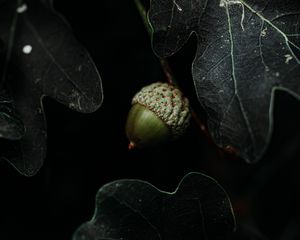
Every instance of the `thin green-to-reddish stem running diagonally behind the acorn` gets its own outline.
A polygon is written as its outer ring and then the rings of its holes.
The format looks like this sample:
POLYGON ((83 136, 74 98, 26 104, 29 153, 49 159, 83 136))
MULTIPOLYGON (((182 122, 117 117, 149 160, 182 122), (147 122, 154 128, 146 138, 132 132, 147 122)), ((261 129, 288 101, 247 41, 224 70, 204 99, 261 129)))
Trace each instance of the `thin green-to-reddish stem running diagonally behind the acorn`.
MULTIPOLYGON (((150 35, 150 37, 152 38, 153 29, 152 29, 152 26, 149 23, 148 16, 147 16, 147 11, 146 11, 144 5, 141 3, 141 0, 134 0, 134 2, 135 2, 135 5, 137 7, 137 10, 140 13, 140 16, 141 16, 141 18, 144 22, 145 28, 146 28, 148 34, 150 35)), ((159 59, 160 65, 161 65, 161 67, 164 71, 164 74, 166 76, 167 82, 169 84, 175 85, 177 88, 179 88, 178 83, 175 80, 172 68, 171 68, 168 60, 165 59, 165 58, 161 58, 161 57, 158 57, 158 59, 159 59)), ((201 132, 203 132, 204 135, 208 138, 208 140, 213 143, 213 140, 212 140, 209 132, 207 131, 207 128, 206 128, 205 124, 199 119, 199 117, 197 116, 197 114, 193 110, 193 108, 190 107, 190 109, 191 109, 191 115, 192 115, 192 118, 194 119, 194 122, 197 124, 197 126, 199 127, 201 132)))

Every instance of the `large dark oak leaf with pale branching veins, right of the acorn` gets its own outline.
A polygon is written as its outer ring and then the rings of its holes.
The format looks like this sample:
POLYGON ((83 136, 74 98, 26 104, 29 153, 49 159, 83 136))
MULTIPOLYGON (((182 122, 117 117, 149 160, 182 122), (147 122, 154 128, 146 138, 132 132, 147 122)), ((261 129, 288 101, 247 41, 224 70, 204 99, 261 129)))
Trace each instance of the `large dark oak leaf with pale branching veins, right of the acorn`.
POLYGON ((298 0, 152 0, 153 49, 177 52, 192 33, 192 74, 211 135, 248 162, 272 133, 275 90, 300 93, 298 0))

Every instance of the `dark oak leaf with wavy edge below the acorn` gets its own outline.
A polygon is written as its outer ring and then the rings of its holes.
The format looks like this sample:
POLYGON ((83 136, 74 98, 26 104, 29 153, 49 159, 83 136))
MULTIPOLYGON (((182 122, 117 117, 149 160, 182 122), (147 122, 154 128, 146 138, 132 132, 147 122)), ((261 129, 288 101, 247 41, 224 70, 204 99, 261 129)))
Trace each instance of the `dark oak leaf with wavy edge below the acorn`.
POLYGON ((226 239, 235 228, 229 198, 212 178, 190 173, 174 193, 140 180, 103 186, 92 220, 73 240, 226 239))

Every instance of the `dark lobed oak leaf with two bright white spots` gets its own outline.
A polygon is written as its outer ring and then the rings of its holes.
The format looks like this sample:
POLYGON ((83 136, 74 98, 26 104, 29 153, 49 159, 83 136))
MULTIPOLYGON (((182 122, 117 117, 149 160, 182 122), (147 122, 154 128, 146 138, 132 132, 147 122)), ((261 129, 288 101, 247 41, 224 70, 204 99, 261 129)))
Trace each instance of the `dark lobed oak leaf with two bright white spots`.
POLYGON ((32 176, 46 156, 43 97, 79 112, 93 112, 102 103, 101 79, 50 0, 4 1, 0 38, 6 53, 2 82, 11 90, 26 129, 22 140, 7 146, 9 154, 4 157, 20 173, 32 176))

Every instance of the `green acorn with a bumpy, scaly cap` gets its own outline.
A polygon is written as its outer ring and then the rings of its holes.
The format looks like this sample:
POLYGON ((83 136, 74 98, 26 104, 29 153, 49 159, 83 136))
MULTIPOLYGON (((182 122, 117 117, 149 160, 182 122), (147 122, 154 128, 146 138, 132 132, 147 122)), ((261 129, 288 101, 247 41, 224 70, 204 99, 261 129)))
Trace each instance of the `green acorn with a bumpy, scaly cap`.
POLYGON ((189 101, 175 86, 157 82, 142 88, 132 99, 126 122, 129 149, 179 138, 190 117, 189 101))

